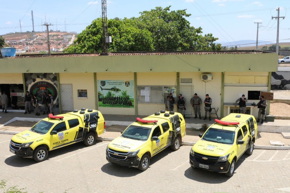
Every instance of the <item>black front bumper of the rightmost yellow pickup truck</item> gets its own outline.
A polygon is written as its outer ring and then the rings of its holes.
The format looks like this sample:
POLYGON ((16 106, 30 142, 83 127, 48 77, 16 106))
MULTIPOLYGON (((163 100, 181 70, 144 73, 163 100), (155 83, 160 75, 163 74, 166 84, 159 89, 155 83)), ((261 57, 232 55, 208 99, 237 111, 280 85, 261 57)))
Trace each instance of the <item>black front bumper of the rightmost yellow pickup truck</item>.
POLYGON ((189 163, 191 165, 191 167, 197 167, 197 168, 201 168, 204 170, 209 170, 209 171, 213 171, 213 172, 219 172, 219 173, 226 173, 229 170, 230 167, 230 163, 229 161, 222 161, 222 162, 216 162, 215 164, 206 164, 206 163, 200 163, 198 162, 195 158, 194 155, 189 153, 189 163), (204 165, 205 167, 208 166, 208 168, 204 168, 204 167, 200 167, 202 165, 204 165))

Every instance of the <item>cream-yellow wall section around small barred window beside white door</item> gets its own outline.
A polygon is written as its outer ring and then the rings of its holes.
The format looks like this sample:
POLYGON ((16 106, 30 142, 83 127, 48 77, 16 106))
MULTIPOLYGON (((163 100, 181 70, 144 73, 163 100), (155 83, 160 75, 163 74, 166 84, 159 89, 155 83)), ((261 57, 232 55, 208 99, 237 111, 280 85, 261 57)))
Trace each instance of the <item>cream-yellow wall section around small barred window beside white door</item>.
MULTIPOLYGON (((95 85, 94 73, 59 73, 60 84, 72 84, 73 86, 73 108, 95 109, 95 85), (78 99, 77 90, 85 89, 88 92, 87 99, 78 99)), ((61 92, 61 91, 60 91, 61 92)))

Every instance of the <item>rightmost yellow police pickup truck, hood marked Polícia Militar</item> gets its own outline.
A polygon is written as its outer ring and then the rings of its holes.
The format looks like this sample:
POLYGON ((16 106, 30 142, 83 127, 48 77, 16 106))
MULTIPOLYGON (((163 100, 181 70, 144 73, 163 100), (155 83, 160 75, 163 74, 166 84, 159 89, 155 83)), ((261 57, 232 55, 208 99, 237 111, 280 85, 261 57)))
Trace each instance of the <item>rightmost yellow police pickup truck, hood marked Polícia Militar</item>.
POLYGON ((233 176, 236 162, 246 153, 251 155, 257 139, 257 122, 252 115, 231 113, 215 119, 191 148, 189 163, 193 168, 233 176))

